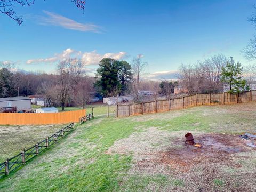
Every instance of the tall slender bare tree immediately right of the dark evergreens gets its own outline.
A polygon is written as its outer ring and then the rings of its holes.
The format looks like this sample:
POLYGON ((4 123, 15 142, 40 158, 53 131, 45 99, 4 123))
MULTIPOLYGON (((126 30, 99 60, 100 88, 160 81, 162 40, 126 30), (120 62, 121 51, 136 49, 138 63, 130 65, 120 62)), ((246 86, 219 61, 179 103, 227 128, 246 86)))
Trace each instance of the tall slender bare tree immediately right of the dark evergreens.
POLYGON ((134 101, 138 102, 139 99, 139 85, 140 79, 145 72, 147 62, 142 60, 142 55, 138 55, 137 57, 132 58, 132 71, 133 71, 133 94, 134 101))

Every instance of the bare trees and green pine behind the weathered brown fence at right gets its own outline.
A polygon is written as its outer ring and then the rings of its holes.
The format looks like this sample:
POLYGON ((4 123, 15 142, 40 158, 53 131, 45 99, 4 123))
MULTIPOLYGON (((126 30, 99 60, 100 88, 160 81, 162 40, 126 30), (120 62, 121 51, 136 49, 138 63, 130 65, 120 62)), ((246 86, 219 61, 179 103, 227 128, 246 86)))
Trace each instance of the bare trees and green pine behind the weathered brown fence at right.
POLYGON ((252 73, 243 71, 241 63, 235 63, 232 57, 228 59, 218 54, 194 64, 182 64, 178 78, 189 94, 223 92, 224 86, 228 87, 229 93, 239 93, 251 89, 256 77, 252 73))

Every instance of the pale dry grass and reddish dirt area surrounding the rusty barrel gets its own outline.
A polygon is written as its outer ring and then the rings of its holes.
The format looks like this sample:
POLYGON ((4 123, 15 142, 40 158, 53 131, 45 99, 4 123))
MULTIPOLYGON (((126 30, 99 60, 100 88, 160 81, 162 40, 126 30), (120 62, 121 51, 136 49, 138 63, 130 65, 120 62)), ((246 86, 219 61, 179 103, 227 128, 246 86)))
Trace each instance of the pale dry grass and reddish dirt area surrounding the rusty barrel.
POLYGON ((201 145, 195 147, 185 144, 185 133, 150 128, 117 141, 107 153, 133 154, 126 180, 167 178, 161 187, 148 185, 146 190, 255 191, 256 150, 239 135, 195 132, 195 142, 201 145))

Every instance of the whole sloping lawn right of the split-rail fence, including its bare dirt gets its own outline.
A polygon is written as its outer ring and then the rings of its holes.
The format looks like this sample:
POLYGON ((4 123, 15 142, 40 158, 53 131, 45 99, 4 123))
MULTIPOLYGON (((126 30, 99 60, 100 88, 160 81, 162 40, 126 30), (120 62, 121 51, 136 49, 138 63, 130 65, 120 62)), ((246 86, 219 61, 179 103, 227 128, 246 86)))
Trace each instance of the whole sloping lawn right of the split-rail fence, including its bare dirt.
POLYGON ((255 191, 256 150, 238 137, 256 133, 255 102, 127 118, 94 109, 0 191, 255 191), (187 132, 201 148, 185 145, 187 132))

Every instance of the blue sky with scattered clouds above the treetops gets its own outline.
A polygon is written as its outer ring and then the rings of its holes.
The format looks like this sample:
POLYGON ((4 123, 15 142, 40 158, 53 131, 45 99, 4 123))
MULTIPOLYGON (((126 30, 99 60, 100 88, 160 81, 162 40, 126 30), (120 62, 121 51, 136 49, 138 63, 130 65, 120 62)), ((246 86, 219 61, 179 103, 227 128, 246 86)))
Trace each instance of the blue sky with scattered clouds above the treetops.
POLYGON ((81 58, 94 75, 102 58, 131 62, 143 54, 151 79, 173 79, 181 63, 222 53, 247 65, 243 47, 255 28, 250 0, 36 0, 15 6, 25 21, 0 14, 0 61, 20 70, 53 73, 57 62, 81 58))

